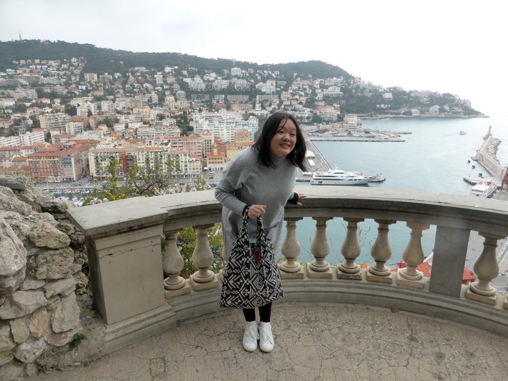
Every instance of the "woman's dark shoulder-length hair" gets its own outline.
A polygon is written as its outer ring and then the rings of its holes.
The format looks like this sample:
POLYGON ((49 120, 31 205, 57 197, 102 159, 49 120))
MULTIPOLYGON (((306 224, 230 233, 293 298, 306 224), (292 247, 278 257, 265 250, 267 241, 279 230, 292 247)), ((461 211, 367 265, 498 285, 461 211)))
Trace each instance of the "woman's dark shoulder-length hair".
POLYGON ((300 125, 296 121, 295 117, 287 112, 276 112, 270 115, 270 117, 265 121, 265 124, 263 124, 261 135, 254 143, 253 147, 258 150, 258 157, 261 163, 267 167, 275 168, 270 156, 270 142, 280 128, 282 128, 283 125, 279 128, 280 123, 283 122, 283 124, 285 124, 288 119, 293 121, 296 125, 296 144, 295 149, 288 153, 286 157, 295 167, 298 167, 303 172, 306 172, 307 167, 305 166, 305 152, 307 152, 307 147, 305 145, 305 139, 303 139, 300 125))

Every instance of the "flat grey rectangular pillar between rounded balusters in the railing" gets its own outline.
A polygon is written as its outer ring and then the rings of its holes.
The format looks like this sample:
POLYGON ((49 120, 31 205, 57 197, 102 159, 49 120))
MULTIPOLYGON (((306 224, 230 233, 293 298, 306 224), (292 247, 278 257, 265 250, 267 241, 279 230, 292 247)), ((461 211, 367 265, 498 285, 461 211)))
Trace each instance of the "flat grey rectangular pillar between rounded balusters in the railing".
POLYGON ((460 297, 469 232, 469 229, 437 227, 430 292, 460 297))

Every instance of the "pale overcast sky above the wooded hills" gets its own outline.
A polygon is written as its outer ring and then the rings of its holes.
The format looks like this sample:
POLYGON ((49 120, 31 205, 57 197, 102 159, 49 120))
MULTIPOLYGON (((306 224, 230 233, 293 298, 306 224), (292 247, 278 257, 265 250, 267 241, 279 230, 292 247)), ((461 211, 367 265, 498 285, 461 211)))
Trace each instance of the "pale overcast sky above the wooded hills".
POLYGON ((506 107, 500 1, 0 0, 0 41, 90 43, 258 63, 321 60, 365 81, 506 107), (347 4, 349 3, 349 4, 347 4))

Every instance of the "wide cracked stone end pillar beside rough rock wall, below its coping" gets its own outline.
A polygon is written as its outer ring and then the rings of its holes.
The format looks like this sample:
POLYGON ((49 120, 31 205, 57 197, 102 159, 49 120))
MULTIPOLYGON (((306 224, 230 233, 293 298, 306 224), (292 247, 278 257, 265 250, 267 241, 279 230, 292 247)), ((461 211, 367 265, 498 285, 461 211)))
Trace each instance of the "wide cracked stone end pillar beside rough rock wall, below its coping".
POLYGON ((162 225, 104 238, 87 238, 93 302, 106 323, 112 352, 176 326, 164 293, 162 225))

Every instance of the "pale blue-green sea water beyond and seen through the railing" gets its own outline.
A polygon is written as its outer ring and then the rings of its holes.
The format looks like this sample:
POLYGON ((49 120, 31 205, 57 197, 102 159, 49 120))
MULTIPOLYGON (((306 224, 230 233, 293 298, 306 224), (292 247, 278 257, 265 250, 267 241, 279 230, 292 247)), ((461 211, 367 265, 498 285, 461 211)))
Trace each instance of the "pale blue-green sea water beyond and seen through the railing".
MULTIPOLYGON (((497 158, 508 164, 508 124, 503 118, 390 118, 362 120, 363 128, 409 132, 401 134, 404 142, 313 142, 330 166, 345 171, 363 172, 366 176, 382 174, 385 182, 366 186, 423 190, 426 192, 469 195, 470 184, 464 177, 489 176, 488 171, 471 156, 481 147, 483 137, 492 126, 492 135, 501 140, 497 158), (460 135, 460 131, 467 134, 460 135), (470 163, 467 163, 471 160, 470 163), (475 165, 475 168, 471 168, 475 165)), ((307 183, 302 183, 308 185, 307 183)), ((303 200, 305 202, 305 200, 303 200)), ((327 222, 330 254, 326 261, 336 265, 343 261, 340 245, 345 237, 346 223, 342 218, 327 222)), ((362 253, 357 263, 374 263, 370 247, 377 235, 377 224, 366 219, 359 223, 359 239, 362 253)), ((402 260, 402 251, 409 241, 410 229, 403 221, 390 225, 388 234, 392 258, 388 263, 402 260)), ((422 246, 425 255, 434 247, 435 226, 423 232, 422 246)), ((315 233, 315 221, 304 218, 297 223, 297 237, 302 246, 298 260, 306 262, 314 258, 310 242, 315 233)))

